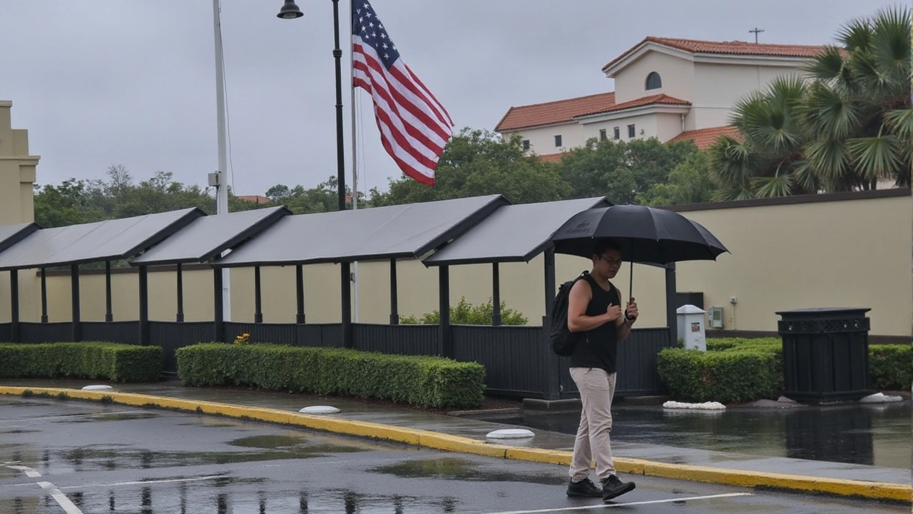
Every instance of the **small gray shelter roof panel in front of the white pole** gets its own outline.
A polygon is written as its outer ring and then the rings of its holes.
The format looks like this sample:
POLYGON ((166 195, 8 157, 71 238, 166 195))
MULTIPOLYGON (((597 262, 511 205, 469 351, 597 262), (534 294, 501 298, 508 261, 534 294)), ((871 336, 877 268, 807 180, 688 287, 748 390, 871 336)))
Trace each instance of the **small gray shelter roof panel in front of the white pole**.
POLYGON ((266 230, 283 216, 286 207, 242 210, 193 220, 184 229, 131 261, 133 265, 206 262, 266 230))

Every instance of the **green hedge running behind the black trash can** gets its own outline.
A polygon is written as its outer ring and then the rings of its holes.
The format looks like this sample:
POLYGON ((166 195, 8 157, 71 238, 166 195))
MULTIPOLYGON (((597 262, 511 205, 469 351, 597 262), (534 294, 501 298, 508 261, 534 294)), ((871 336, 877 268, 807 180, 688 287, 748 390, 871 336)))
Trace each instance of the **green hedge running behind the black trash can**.
MULTIPOLYGON (((913 347, 869 345, 870 386, 909 391, 913 347)), ((776 399, 784 389, 779 337, 707 339, 707 351, 664 348, 656 358, 660 380, 679 400, 750 402, 776 399)))

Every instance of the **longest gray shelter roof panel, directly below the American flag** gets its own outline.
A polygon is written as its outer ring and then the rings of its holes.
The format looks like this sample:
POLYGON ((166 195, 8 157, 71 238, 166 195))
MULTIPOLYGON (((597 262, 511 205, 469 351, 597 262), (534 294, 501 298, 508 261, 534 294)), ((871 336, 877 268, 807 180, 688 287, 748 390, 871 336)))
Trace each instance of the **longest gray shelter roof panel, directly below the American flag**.
POLYGON ((416 258, 509 202, 501 195, 286 216, 215 266, 416 258))

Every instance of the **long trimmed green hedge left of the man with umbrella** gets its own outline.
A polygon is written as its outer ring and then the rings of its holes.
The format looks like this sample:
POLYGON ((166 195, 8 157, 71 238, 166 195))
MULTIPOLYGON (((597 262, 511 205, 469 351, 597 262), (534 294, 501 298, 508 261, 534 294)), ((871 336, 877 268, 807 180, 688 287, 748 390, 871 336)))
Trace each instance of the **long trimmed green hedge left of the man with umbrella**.
POLYGON ((178 376, 191 386, 357 396, 433 408, 481 405, 485 368, 475 362, 349 348, 200 343, 179 348, 178 376))

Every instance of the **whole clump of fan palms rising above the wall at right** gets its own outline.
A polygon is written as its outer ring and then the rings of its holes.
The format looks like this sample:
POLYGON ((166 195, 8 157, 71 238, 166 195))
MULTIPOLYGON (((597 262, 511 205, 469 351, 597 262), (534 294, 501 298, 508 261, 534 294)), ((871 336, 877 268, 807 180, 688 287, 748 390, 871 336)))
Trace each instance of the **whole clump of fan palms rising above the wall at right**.
POLYGON ((811 59, 810 77, 782 76, 737 102, 740 137, 709 149, 715 199, 780 197, 910 185, 910 17, 884 9, 842 27, 811 59))

